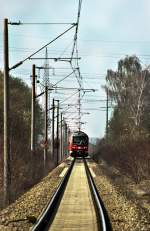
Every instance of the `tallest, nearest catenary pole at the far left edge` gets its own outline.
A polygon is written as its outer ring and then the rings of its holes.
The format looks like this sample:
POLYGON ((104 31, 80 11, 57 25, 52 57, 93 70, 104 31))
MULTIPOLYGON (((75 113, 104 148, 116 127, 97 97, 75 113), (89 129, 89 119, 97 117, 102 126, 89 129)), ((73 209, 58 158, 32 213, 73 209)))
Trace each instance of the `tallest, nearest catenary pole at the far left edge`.
POLYGON ((9 47, 8 19, 4 19, 4 205, 10 203, 10 143, 9 143, 9 47))

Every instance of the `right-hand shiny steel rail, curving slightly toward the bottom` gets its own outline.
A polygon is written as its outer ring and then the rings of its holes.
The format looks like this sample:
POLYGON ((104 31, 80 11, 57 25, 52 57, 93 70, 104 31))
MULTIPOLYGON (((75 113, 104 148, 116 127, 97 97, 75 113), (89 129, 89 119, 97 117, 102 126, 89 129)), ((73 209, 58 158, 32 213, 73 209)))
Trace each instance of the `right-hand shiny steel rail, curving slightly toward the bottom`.
POLYGON ((102 202, 102 199, 100 198, 95 182, 91 175, 90 169, 88 167, 87 161, 85 159, 84 159, 84 165, 85 165, 85 170, 86 170, 86 174, 88 178, 88 183, 89 183, 92 197, 94 200, 94 205, 95 205, 97 220, 98 220, 98 226, 99 226, 98 228, 100 231, 112 231, 112 226, 111 226, 107 211, 102 202))

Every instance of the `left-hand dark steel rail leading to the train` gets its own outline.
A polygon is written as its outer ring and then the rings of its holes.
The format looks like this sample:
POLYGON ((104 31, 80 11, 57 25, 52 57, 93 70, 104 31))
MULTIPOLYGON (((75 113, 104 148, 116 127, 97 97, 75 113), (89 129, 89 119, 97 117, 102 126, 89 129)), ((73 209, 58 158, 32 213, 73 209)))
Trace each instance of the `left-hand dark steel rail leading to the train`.
POLYGON ((63 180, 60 182, 56 192, 54 193, 53 197, 51 198, 44 212, 41 214, 41 216, 39 217, 35 225, 31 228, 31 231, 48 230, 49 224, 52 223, 52 220, 55 215, 54 213, 56 212, 58 205, 61 201, 61 198, 63 196, 63 193, 65 191, 65 188, 69 180, 69 177, 71 175, 74 163, 75 163, 75 159, 72 161, 68 171, 66 172, 63 180))

